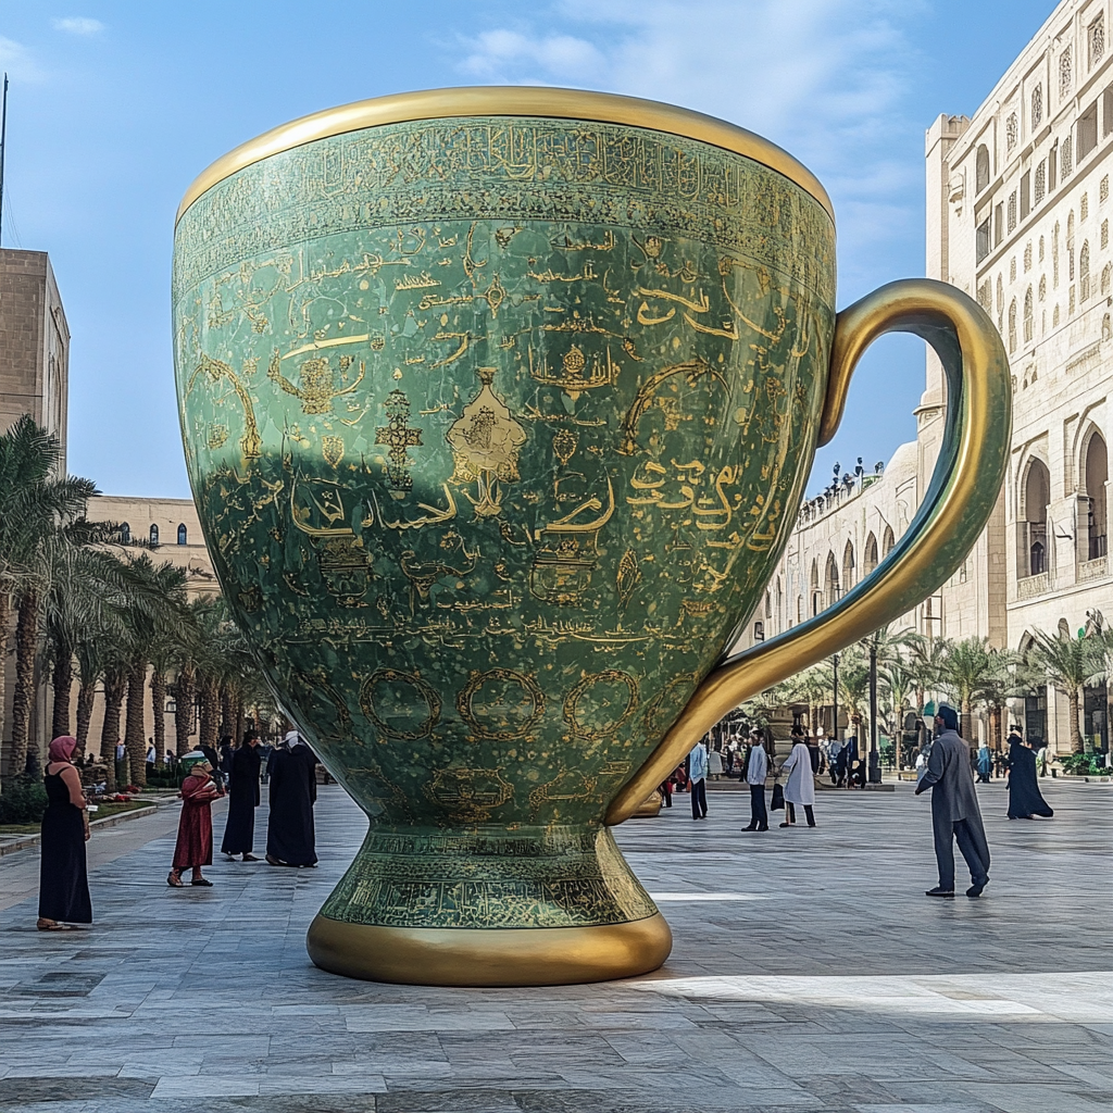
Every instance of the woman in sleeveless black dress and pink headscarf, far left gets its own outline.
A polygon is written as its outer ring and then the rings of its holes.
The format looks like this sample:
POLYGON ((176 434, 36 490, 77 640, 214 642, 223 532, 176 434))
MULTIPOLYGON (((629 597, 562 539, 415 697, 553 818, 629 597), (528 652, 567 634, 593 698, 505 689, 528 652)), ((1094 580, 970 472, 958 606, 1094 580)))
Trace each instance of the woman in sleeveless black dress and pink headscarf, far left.
POLYGON ((42 814, 40 932, 70 932, 71 924, 92 923, 85 860, 89 812, 81 777, 70 761, 76 746, 77 739, 68 735, 56 738, 50 743, 50 760, 43 777, 48 802, 42 814))

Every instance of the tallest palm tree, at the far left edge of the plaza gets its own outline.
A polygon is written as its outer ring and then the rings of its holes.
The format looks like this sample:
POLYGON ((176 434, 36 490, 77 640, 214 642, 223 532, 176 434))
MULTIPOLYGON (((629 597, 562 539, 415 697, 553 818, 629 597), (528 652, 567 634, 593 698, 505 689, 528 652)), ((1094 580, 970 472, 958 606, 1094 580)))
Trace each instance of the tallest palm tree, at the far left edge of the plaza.
MULTIPOLYGON (((97 489, 89 480, 59 476, 61 449, 24 414, 0 434, 0 646, 11 632, 13 602, 19 610, 16 690, 10 768, 22 770, 29 757, 30 708, 39 634, 39 598, 45 590, 46 539, 60 523, 83 516, 97 489)), ((3 669, 0 669, 0 732, 3 727, 3 669)), ((35 755, 30 755, 32 762, 35 755)))

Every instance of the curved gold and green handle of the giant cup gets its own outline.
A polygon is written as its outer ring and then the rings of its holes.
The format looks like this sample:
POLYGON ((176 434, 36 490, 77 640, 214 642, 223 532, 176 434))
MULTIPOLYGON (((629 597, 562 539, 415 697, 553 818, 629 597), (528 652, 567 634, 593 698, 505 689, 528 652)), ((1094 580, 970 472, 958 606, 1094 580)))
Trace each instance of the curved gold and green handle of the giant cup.
POLYGON ((908 531, 870 575, 833 607, 777 638, 727 658, 628 781, 607 812, 628 819, 731 708, 907 613, 966 559, 997 500, 1008 460, 1008 358, 988 315, 945 283, 889 283, 848 306, 835 324, 818 443, 838 429, 850 375, 885 333, 923 337, 943 363, 947 420, 932 484, 908 531))

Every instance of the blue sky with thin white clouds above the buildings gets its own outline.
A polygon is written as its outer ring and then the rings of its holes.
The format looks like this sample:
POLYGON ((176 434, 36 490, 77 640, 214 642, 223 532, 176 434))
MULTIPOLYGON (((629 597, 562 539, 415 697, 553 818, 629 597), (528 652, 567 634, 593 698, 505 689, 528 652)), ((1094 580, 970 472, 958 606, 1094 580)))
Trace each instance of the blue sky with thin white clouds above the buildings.
MULTIPOLYGON (((544 83, 759 131, 835 201, 839 306, 924 272, 924 130, 972 112, 1050 0, 0 0, 11 76, 3 244, 48 250, 72 332, 69 466, 187 496, 174 402, 174 214, 193 178, 307 112, 407 89, 544 83)), ((867 356, 835 460, 915 435, 923 345, 867 356)))

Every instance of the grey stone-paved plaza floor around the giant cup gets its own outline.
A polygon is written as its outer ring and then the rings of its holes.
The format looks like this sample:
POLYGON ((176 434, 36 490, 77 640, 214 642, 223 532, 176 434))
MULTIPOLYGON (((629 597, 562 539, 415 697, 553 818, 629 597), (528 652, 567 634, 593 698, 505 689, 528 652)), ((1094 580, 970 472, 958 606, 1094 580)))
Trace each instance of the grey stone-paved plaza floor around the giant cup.
MULTIPOLYGON (((97 923, 35 930, 36 850, 0 860, 0 1109, 42 1113, 1097 1113, 1113 1102, 1113 786, 981 790, 982 900, 932 902, 925 798, 825 792, 742 835, 686 797, 618 839, 672 925, 648 977, 545 989, 348 982, 305 929, 357 846, 337 788, 316 870, 165 877, 176 809, 90 844, 97 923)), ((257 831, 265 826, 260 809, 257 831)), ((223 831, 224 819, 215 824, 223 831)), ((963 876, 961 874, 961 876, 963 876)))

